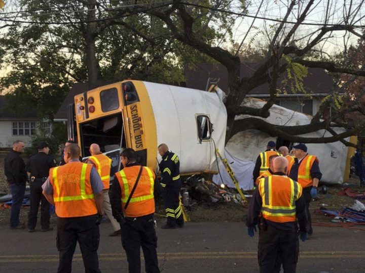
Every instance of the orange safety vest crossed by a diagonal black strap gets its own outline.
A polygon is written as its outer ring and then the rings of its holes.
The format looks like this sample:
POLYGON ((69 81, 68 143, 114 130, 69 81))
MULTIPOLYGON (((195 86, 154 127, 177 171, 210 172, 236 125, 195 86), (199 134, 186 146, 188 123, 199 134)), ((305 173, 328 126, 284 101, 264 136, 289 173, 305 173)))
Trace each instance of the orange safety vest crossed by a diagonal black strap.
POLYGON ((126 211, 124 211, 124 206, 127 203, 129 195, 133 189, 140 166, 125 167, 116 173, 122 193, 122 210, 126 217, 140 217, 155 212, 155 174, 149 167, 142 168, 137 188, 129 201, 126 211))

